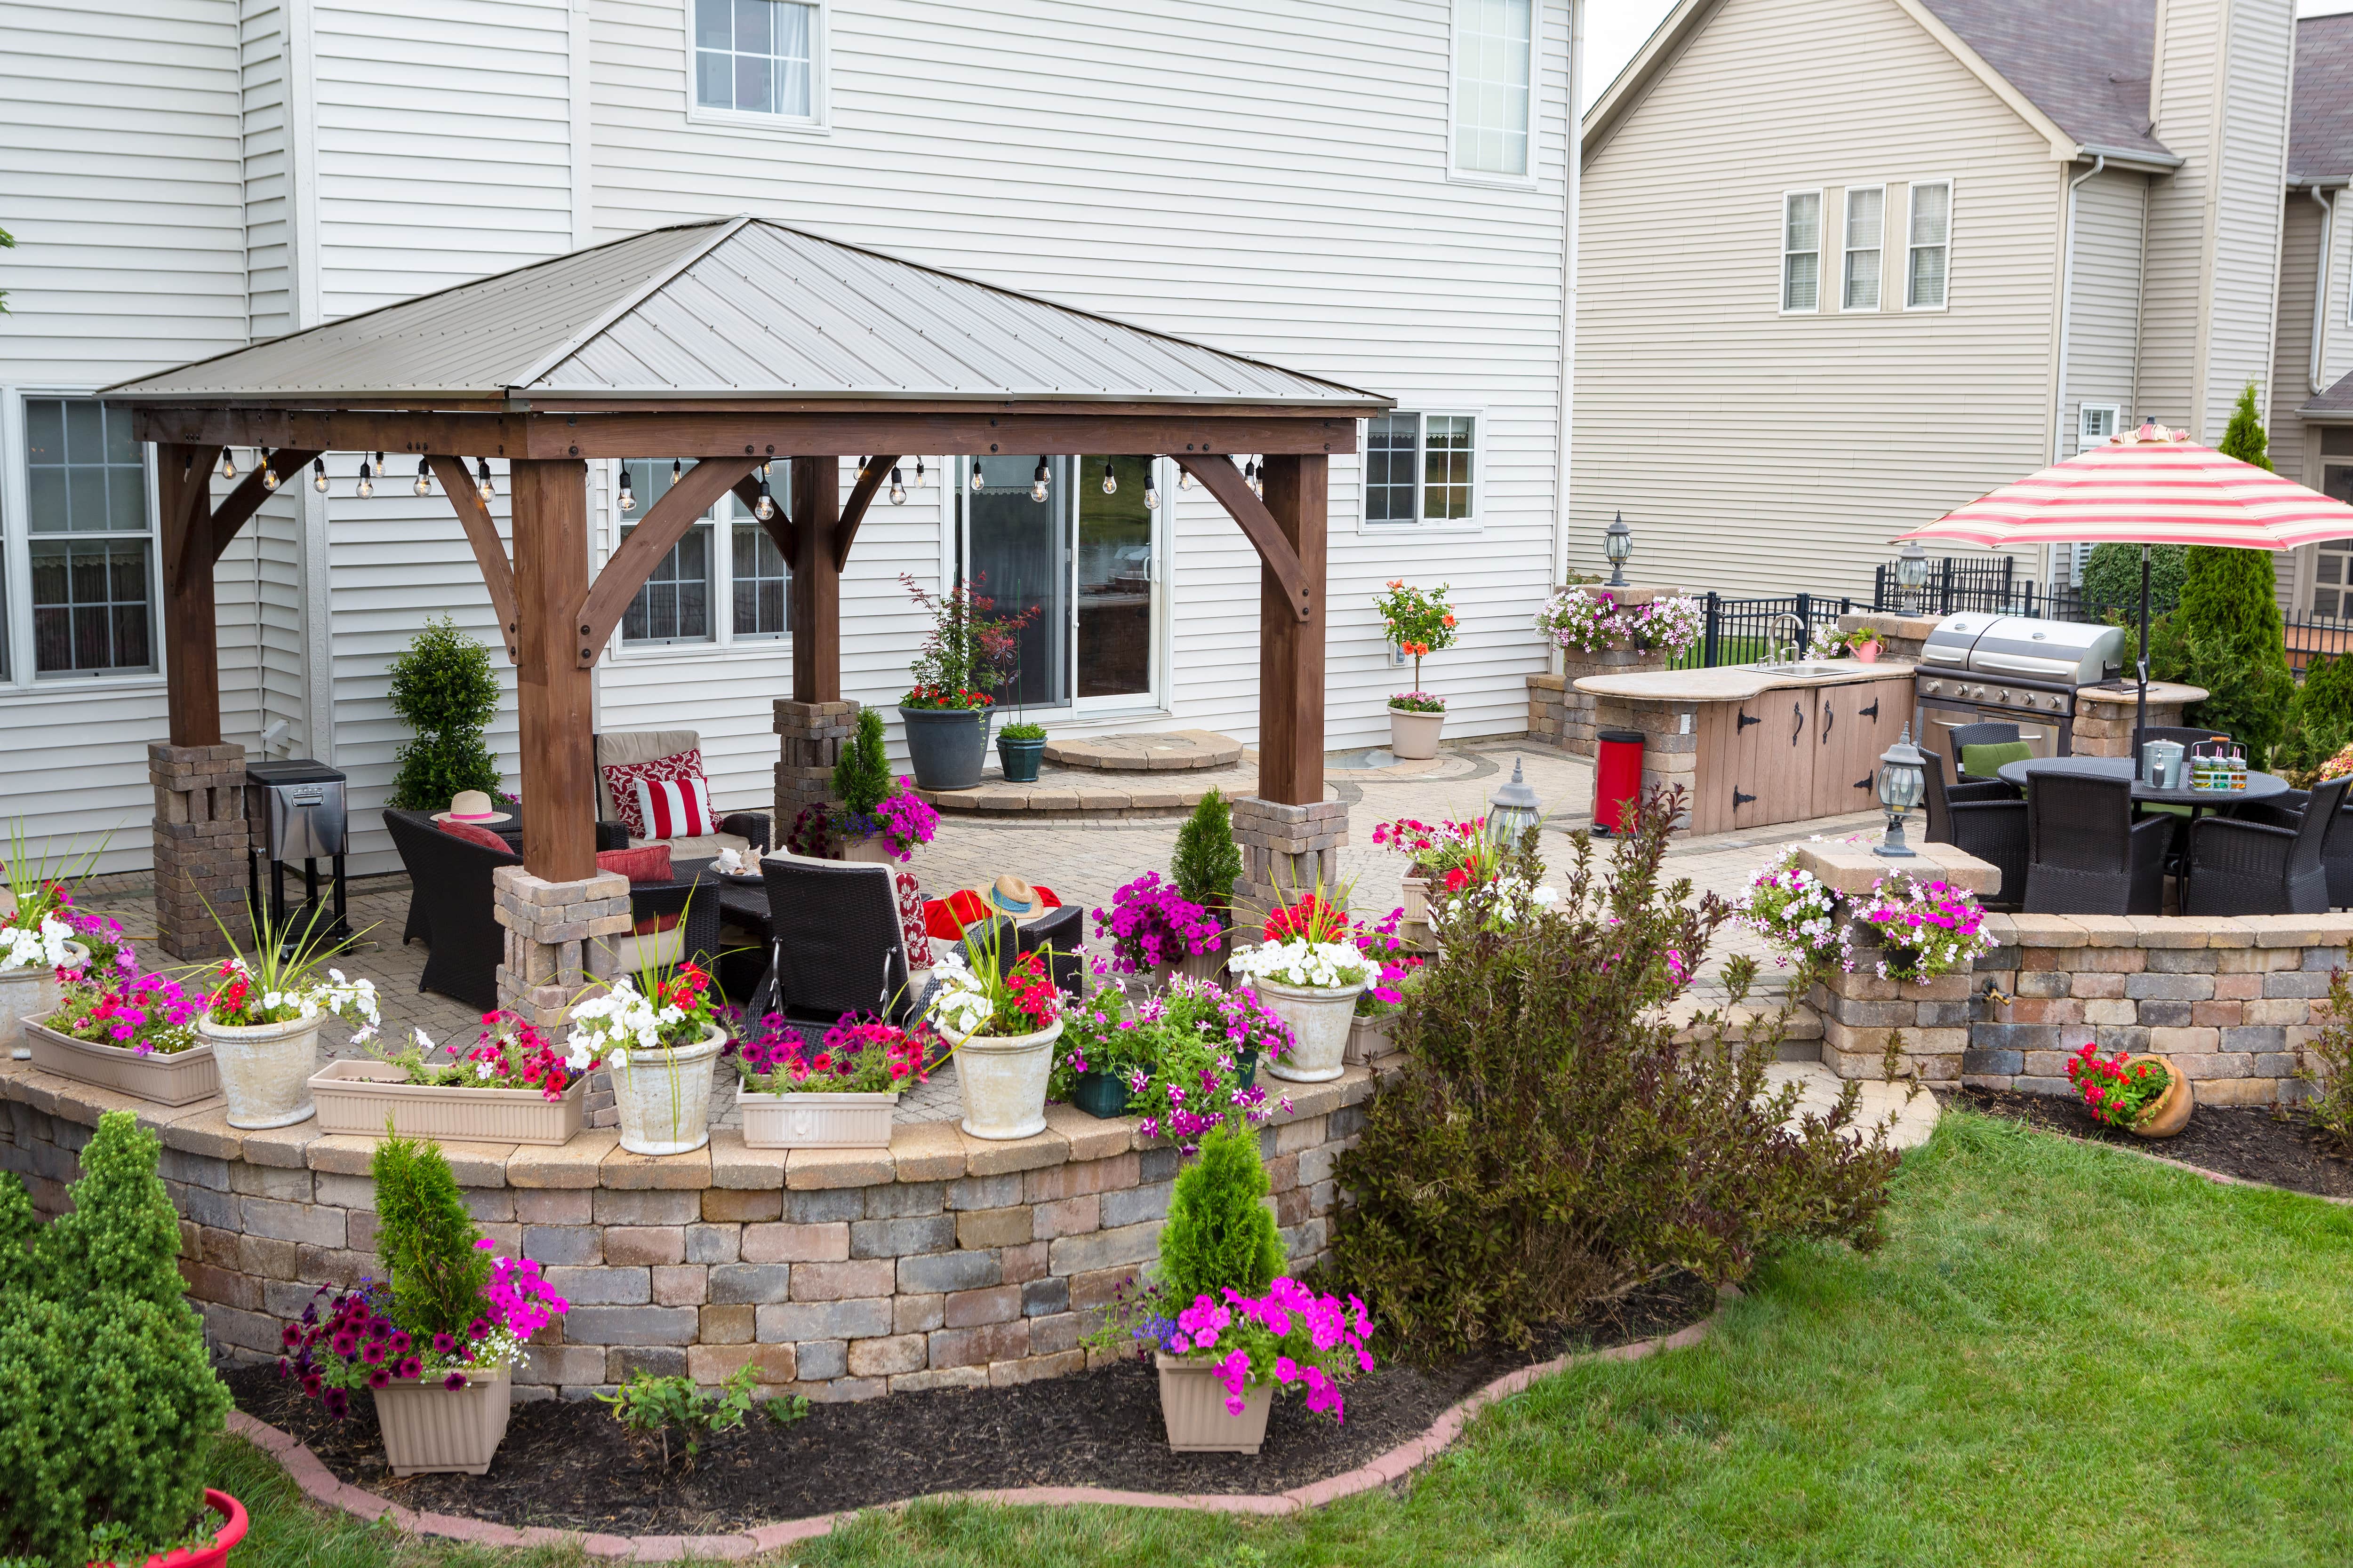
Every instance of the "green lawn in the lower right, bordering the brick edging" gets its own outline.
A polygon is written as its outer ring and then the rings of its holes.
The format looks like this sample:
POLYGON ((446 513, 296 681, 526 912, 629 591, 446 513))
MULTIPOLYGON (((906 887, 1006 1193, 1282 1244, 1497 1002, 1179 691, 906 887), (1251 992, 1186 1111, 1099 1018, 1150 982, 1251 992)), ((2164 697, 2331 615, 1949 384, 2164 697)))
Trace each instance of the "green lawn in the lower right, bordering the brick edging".
MULTIPOLYGON (((1506 1401, 1405 1497, 1271 1523, 918 1507, 793 1561, 2353 1561, 2353 1211, 1948 1114, 1889 1229, 1765 1269, 1699 1349, 1506 1401)), ((264 1500, 238 1568, 388 1556, 249 1450, 224 1474, 264 1500)))

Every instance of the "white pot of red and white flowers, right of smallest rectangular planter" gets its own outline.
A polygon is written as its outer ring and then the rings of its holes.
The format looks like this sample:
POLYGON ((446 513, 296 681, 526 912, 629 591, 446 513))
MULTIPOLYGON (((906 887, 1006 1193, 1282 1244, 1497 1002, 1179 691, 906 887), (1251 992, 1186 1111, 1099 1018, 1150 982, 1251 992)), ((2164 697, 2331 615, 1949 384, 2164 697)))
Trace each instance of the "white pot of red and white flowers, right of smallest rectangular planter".
POLYGON ((1045 1131, 1045 1084, 1061 1034, 1061 992, 1052 952, 1000 961, 1002 924, 972 933, 932 964, 927 1018, 951 1041, 962 1128, 974 1138, 1033 1138, 1045 1131), (967 961, 969 959, 969 961, 967 961))

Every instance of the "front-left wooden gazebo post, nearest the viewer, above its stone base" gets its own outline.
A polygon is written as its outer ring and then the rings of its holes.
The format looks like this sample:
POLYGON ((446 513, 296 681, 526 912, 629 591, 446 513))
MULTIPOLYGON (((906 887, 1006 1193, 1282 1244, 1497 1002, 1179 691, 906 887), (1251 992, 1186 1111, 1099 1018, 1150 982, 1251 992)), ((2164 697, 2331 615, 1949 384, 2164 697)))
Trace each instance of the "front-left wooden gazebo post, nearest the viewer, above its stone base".
POLYGON ((595 708, 572 616, 588 595, 588 465, 513 465, 515 708, 522 748, 522 865, 548 882, 595 875, 595 708))

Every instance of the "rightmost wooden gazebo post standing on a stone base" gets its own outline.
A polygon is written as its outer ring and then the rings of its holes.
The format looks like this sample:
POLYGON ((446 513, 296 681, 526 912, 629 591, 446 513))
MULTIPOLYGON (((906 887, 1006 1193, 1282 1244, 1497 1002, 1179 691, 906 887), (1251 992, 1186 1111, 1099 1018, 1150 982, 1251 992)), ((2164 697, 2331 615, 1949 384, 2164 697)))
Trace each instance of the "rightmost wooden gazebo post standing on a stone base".
MULTIPOLYGON (((1306 592, 1320 599, 1329 463, 1320 454, 1271 456, 1264 473, 1266 510, 1306 578, 1306 592)), ((1242 475, 1233 477, 1240 482, 1242 475)), ((1306 806, 1322 799, 1325 628, 1292 614, 1292 604, 1289 585, 1268 559, 1259 571, 1259 797, 1306 806)))

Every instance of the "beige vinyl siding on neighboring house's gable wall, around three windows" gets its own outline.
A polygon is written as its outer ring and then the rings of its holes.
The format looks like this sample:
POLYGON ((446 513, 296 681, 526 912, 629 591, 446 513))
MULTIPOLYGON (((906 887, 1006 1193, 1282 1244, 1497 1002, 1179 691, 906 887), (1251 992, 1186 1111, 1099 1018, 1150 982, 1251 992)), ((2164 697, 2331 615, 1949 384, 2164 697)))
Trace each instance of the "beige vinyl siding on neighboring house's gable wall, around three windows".
POLYGON ((2061 188, 1892 0, 1725 0, 1586 162, 1572 567, 1624 510, 1640 581, 1868 592, 1889 538, 2042 465, 2061 188), (1948 308, 1906 313, 1927 179, 1948 308), (1885 308, 1784 317, 1781 193, 1847 183, 1889 190, 1885 308))

